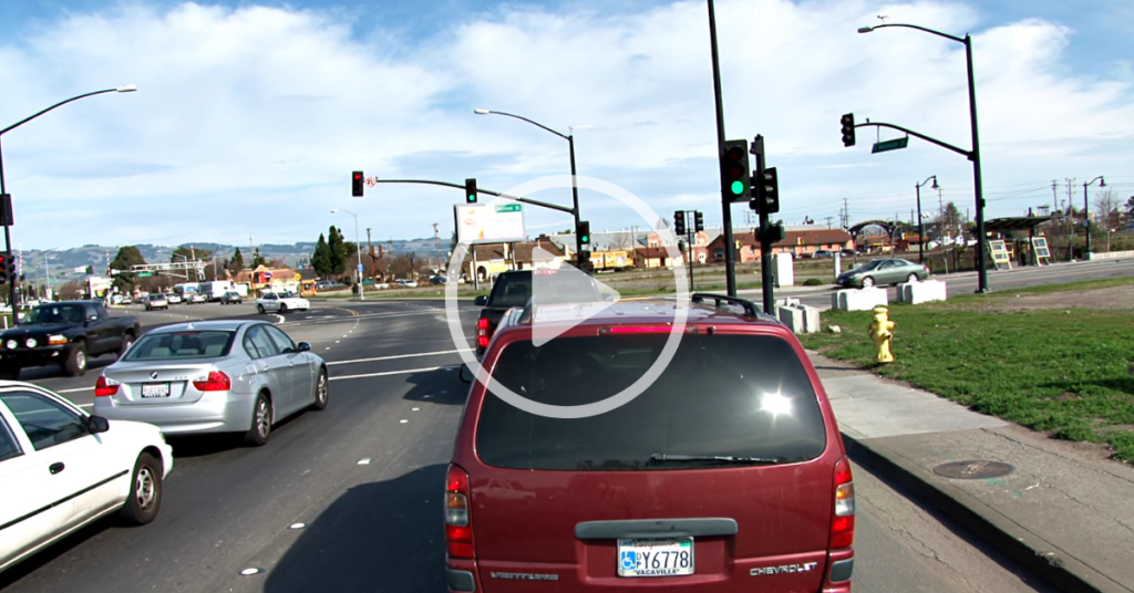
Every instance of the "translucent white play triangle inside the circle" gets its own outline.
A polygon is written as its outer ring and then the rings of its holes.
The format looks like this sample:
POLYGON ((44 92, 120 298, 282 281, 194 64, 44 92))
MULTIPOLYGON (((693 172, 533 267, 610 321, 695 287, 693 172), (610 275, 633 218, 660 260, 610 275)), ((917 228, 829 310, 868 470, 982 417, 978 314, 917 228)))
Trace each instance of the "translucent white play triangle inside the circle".
POLYGON ((539 348, 602 313, 620 295, 550 252, 532 252, 532 345, 539 348))

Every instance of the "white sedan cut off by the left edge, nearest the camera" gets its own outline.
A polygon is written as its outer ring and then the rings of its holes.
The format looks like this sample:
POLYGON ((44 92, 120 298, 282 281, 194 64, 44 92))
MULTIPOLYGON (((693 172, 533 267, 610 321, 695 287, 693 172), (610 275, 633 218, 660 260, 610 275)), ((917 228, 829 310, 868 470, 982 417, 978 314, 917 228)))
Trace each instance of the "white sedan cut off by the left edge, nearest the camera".
POLYGON ((0 571, 112 512, 152 522, 172 467, 156 426, 0 381, 0 571))

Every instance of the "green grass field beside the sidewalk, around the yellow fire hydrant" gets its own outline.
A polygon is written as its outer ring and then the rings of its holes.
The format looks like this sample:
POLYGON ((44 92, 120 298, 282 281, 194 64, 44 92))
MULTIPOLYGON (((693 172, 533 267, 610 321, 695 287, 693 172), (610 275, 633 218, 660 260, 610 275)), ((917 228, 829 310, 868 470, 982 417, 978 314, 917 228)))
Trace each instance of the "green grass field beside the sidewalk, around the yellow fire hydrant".
POLYGON ((888 365, 873 361, 869 311, 824 312, 823 325, 843 332, 805 336, 803 342, 984 414, 1060 439, 1109 443, 1115 458, 1134 461, 1134 311, 967 308, 982 297, 990 295, 891 306, 895 362, 888 365))

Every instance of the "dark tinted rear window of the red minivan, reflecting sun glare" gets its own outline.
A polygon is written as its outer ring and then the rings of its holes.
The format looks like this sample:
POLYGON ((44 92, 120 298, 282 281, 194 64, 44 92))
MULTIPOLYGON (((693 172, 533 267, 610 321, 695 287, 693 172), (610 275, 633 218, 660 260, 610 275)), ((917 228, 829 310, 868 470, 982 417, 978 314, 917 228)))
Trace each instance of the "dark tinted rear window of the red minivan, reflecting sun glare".
MULTIPOLYGON (((557 338, 505 347, 493 378, 543 404, 606 399, 637 381, 668 334, 557 338)), ((819 457, 822 409, 803 364, 781 338, 686 334, 661 376, 633 401, 589 418, 548 418, 492 393, 483 399, 476 451, 497 467, 634 471, 705 467, 657 463, 654 454, 734 456, 782 463, 819 457)))

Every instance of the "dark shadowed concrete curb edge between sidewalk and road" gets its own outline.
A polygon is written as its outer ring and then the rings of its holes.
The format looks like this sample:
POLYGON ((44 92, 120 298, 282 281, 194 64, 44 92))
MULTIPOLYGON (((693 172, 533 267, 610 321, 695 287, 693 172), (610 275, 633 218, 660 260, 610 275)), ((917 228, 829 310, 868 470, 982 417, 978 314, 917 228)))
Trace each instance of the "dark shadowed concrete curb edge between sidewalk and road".
POLYGON ((881 443, 864 443, 843 433, 847 455, 854 463, 870 467, 928 500, 979 537, 1017 561, 1049 585, 1067 593, 1131 593, 1077 558, 1060 550, 1027 527, 984 505, 980 499, 930 477, 923 467, 900 451, 881 443))

